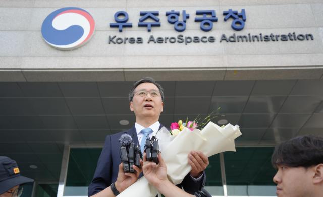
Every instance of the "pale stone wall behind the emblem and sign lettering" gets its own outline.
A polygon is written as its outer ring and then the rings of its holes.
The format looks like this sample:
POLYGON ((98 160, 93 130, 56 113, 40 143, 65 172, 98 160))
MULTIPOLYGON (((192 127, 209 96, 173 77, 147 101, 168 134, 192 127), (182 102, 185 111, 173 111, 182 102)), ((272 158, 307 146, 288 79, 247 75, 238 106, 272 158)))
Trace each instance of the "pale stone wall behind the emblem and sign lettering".
POLYGON ((0 2, 0 81, 244 80, 323 78, 323 1, 4 1, 0 2), (94 18, 91 40, 60 51, 42 38, 43 20, 63 7, 80 7, 94 18), (242 31, 223 21, 228 9, 246 10, 242 31), (190 14, 184 32, 167 22, 166 11, 190 14), (194 22, 196 10, 216 10, 218 22, 204 32, 194 22), (110 28, 117 11, 129 14, 132 28, 110 28), (138 27, 140 11, 159 11, 161 27, 138 27), (308 34, 309 41, 221 42, 227 36, 308 34), (214 36, 214 43, 147 43, 154 37, 214 36), (108 37, 142 37, 143 44, 109 44, 108 37))

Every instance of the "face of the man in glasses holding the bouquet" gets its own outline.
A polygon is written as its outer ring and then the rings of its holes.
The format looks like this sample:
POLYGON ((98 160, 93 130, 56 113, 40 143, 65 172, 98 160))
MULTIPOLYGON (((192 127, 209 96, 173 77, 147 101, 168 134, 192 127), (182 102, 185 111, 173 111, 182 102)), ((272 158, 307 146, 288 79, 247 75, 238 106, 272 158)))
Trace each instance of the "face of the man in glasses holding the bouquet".
POLYGON ((130 110, 136 115, 136 119, 142 118, 154 118, 156 121, 159 118, 161 112, 163 112, 163 101, 156 85, 152 83, 141 83, 135 89, 135 95, 130 102, 130 110), (146 96, 140 96, 139 92, 150 92, 146 96), (151 93, 157 92, 158 96, 153 97, 151 93))

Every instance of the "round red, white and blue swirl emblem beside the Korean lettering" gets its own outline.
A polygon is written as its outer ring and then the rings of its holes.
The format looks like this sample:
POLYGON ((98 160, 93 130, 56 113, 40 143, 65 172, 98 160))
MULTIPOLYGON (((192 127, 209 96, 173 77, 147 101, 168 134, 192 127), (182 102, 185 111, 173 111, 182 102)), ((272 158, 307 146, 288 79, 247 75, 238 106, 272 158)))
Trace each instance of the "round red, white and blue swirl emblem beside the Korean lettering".
POLYGON ((41 34, 49 45, 61 50, 72 50, 92 37, 94 27, 94 19, 86 10, 66 7, 45 18, 41 34))

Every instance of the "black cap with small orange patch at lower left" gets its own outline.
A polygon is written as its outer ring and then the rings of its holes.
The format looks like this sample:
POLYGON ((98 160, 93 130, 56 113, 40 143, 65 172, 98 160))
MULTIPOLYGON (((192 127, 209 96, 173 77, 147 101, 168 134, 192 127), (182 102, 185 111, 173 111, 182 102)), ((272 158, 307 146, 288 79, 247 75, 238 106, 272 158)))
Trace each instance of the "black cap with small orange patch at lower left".
POLYGON ((20 175, 17 162, 9 157, 0 156, 0 195, 13 188, 28 182, 34 182, 33 179, 20 175))

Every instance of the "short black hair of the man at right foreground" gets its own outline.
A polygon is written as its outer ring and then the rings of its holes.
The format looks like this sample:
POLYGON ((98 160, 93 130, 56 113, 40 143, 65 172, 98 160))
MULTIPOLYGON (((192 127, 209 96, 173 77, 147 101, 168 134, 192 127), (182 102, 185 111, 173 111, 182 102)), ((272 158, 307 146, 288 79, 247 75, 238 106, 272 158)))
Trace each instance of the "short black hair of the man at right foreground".
POLYGON ((272 155, 272 165, 305 167, 323 164, 323 138, 306 135, 279 144, 272 155))

